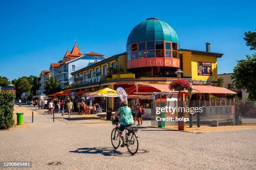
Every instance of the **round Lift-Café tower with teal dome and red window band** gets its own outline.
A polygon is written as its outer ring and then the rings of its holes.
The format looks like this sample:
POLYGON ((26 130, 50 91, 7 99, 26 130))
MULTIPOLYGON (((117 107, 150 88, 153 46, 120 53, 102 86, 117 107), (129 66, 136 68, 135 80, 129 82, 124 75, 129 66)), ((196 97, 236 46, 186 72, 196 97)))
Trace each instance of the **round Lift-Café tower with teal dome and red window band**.
POLYGON ((138 67, 180 67, 179 37, 158 18, 136 25, 127 39, 127 69, 138 67))

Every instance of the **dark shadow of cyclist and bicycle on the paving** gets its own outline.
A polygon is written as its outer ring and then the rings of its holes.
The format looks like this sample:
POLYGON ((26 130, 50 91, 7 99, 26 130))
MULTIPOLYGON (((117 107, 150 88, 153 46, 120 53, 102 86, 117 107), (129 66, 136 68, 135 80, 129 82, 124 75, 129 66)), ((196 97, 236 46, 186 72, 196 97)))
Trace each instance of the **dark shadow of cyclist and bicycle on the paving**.
POLYGON ((77 150, 69 151, 72 153, 89 153, 102 154, 104 156, 132 156, 131 154, 120 152, 109 147, 94 147, 94 148, 77 148, 77 150))

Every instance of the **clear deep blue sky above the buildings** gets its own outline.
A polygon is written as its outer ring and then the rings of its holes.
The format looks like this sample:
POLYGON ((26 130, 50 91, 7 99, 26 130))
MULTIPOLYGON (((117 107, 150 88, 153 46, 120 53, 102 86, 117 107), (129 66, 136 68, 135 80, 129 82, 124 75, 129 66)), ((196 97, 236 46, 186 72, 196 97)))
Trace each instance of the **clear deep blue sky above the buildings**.
MULTIPOLYGON (((39 75, 58 62, 74 40, 82 53, 125 52, 130 31, 146 18, 169 23, 181 48, 224 53, 218 74, 232 72, 236 60, 253 51, 244 32, 256 29, 256 1, 0 1, 0 75, 9 80, 39 75)), ((254 51, 255 52, 255 51, 254 51)))

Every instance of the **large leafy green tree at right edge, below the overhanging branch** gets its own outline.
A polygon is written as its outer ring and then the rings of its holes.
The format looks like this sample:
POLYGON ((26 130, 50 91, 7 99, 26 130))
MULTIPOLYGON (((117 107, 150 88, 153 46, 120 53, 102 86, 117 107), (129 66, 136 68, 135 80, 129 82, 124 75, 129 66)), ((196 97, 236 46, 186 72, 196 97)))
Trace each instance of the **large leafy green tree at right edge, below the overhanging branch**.
POLYGON ((236 88, 247 89, 248 100, 256 100, 256 54, 246 55, 247 60, 237 61, 234 74, 231 76, 236 88))

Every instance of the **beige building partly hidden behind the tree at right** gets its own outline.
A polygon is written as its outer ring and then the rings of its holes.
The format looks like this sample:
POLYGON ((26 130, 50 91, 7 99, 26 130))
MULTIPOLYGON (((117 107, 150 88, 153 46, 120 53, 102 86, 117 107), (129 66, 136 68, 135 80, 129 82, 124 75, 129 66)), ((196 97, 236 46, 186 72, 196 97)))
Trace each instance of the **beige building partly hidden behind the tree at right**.
MULTIPOLYGON (((238 90, 236 89, 236 85, 233 83, 233 80, 231 79, 232 75, 233 73, 219 74, 218 78, 219 77, 223 78, 223 84, 225 88, 238 92, 238 90)), ((242 100, 245 100, 245 101, 248 99, 248 93, 246 91, 247 91, 246 89, 242 89, 241 96, 240 96, 242 97, 242 100)))

